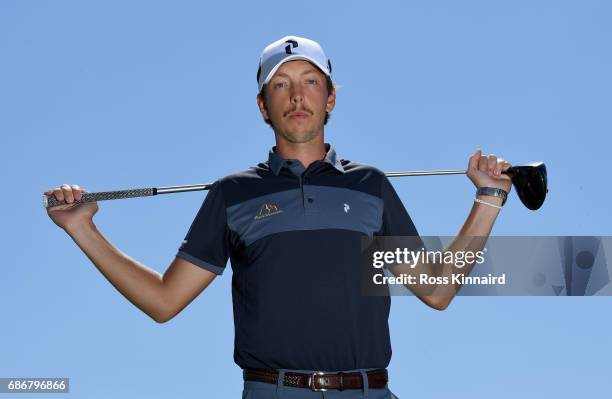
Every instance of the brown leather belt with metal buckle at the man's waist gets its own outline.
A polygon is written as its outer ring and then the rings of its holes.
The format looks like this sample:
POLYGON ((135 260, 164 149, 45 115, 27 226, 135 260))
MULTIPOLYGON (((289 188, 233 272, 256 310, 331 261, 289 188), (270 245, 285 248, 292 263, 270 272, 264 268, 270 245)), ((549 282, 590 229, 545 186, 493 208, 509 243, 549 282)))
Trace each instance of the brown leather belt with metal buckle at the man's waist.
MULTIPOLYGON (((259 381, 268 384, 278 383, 278 370, 244 369, 242 375, 245 381, 259 381)), ((380 389, 384 388, 387 384, 387 369, 370 370, 367 372, 367 375, 369 388, 380 389)), ((284 382, 288 387, 309 388, 313 391, 363 389, 363 381, 359 372, 314 372, 303 374, 287 371, 284 382)))

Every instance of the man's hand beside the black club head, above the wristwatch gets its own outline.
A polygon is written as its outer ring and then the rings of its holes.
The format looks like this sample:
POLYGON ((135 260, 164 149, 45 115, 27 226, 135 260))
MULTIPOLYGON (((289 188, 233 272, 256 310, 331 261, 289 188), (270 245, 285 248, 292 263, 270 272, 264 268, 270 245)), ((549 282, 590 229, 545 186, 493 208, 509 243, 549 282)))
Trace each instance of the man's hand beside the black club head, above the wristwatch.
POLYGON ((512 180, 510 176, 502 174, 512 165, 502 158, 497 158, 494 154, 482 155, 480 148, 468 161, 467 176, 474 183, 476 188, 495 187, 510 193, 512 180))

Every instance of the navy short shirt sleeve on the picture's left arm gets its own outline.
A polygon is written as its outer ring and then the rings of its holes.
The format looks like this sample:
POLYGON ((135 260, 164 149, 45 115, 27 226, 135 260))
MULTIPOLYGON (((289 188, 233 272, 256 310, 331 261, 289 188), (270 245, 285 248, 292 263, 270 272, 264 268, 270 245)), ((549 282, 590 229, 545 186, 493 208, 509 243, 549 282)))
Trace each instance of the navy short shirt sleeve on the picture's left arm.
POLYGON ((176 256, 220 275, 230 256, 230 242, 225 200, 217 180, 206 195, 176 256))

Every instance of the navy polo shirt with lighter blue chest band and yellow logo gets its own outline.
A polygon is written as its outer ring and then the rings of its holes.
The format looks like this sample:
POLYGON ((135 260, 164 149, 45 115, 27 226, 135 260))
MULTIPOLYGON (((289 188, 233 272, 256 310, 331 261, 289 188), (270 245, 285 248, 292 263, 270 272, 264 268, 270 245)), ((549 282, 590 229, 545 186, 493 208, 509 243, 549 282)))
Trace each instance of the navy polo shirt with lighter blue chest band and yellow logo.
POLYGON ((388 296, 363 296, 364 235, 415 236, 385 174, 338 159, 267 162, 214 182, 177 256, 232 266, 234 361, 241 368, 340 371, 391 359, 388 296))

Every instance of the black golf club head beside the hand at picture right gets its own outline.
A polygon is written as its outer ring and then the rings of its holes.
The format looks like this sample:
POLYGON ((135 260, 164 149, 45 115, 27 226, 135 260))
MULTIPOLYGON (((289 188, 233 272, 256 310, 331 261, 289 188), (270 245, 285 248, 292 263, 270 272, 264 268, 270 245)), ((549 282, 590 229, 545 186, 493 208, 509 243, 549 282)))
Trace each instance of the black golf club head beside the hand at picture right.
POLYGON ((544 162, 512 166, 505 173, 512 179, 516 193, 528 209, 535 211, 542 206, 548 192, 544 162))

